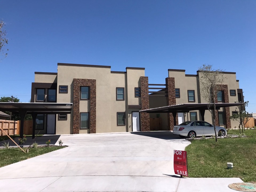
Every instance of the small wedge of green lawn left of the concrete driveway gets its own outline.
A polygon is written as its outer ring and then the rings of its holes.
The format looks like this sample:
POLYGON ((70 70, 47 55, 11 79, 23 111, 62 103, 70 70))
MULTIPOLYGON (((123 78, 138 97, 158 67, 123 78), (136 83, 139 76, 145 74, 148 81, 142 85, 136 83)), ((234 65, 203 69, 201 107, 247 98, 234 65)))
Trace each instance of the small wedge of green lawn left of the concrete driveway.
MULTIPOLYGON (((23 161, 65 147, 66 146, 30 148, 29 153, 23 153, 19 148, 0 149, 0 167, 10 165, 12 163, 23 161)), ((26 147, 22 149, 24 151, 27 151, 26 147)))

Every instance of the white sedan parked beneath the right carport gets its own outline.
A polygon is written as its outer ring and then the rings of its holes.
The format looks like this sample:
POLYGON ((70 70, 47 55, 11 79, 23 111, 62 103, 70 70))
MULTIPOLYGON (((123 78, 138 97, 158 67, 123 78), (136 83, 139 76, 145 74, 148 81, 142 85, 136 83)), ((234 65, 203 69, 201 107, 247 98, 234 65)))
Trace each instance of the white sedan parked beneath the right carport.
MULTIPOLYGON (((216 126, 216 133, 219 136, 225 136, 227 130, 224 127, 216 126)), ((205 121, 186 121, 173 127, 173 134, 180 137, 194 138, 197 136, 215 135, 214 126, 205 121)))

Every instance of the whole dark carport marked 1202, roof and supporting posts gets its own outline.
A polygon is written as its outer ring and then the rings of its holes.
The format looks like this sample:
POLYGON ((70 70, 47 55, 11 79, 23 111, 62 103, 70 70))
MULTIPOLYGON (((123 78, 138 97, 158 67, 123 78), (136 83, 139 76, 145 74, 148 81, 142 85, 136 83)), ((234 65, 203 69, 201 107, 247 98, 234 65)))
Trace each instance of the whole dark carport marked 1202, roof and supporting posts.
POLYGON ((10 111, 21 117, 20 137, 23 138, 24 118, 31 114, 33 119, 32 138, 35 138, 35 125, 38 114, 70 114, 73 103, 0 103, 0 111, 10 111))

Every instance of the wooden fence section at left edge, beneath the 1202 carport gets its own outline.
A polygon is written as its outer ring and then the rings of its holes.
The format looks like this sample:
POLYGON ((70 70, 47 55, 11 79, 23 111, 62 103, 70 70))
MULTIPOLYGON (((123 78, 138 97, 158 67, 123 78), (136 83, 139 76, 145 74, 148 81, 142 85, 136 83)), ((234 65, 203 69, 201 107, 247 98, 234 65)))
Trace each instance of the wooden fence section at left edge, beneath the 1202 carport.
MULTIPOLYGON (((19 134, 19 125, 20 125, 20 121, 15 121, 15 134, 19 134)), ((0 126, 8 135, 13 135, 14 121, 0 119, 0 126)), ((1 133, 1 136, 6 135, 1 129, 0 129, 0 133, 1 133)))

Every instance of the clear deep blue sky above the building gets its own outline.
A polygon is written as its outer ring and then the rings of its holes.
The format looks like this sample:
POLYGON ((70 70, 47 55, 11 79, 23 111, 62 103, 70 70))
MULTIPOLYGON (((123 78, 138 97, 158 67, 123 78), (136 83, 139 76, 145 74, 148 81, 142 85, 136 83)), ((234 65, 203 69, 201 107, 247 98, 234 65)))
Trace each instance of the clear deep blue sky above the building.
POLYGON ((247 111, 256 112, 256 1, 12 1, 0 19, 9 43, 0 62, 0 97, 29 102, 34 72, 57 63, 145 67, 149 83, 168 69, 236 72, 247 111))

